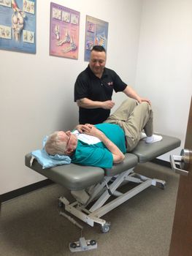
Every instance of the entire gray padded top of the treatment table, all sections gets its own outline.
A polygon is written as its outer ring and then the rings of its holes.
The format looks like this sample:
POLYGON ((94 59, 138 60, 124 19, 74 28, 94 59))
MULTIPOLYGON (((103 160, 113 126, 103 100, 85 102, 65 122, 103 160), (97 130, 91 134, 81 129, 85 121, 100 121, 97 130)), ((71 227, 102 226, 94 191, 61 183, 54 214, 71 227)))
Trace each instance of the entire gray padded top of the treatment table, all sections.
POLYGON ((112 169, 82 165, 60 165, 48 169, 42 169, 36 159, 30 165, 31 154, 26 154, 26 166, 37 173, 50 178, 55 183, 61 184, 70 190, 81 190, 93 184, 101 182, 104 176, 115 176, 125 170, 135 167, 138 162, 148 162, 180 146, 180 139, 163 135, 163 140, 147 144, 140 140, 137 148, 126 154, 126 158, 120 164, 113 165, 112 169))

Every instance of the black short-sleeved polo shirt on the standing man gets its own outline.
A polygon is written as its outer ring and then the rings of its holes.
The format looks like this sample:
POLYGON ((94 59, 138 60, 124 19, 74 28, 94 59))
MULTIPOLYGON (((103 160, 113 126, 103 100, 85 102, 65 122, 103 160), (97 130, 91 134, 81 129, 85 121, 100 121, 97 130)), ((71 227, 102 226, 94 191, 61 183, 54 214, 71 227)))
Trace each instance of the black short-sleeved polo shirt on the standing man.
MULTIPOLYGON (((96 77, 88 66, 78 75, 74 84, 74 101, 88 98, 104 102, 112 99, 112 92, 124 91, 126 83, 112 69, 104 68, 101 78, 96 77)), ((80 108, 80 124, 100 124, 110 116, 110 110, 104 108, 80 108)))

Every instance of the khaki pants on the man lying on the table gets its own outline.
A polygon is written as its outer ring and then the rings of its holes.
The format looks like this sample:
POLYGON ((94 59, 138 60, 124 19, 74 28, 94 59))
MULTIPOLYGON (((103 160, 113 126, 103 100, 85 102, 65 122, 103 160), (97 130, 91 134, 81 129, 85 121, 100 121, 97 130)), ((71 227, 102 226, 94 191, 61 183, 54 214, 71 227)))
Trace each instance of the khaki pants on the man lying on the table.
POLYGON ((153 110, 147 102, 138 103, 128 98, 107 118, 105 123, 118 124, 126 134, 127 151, 139 143, 142 129, 147 136, 153 135, 153 110))

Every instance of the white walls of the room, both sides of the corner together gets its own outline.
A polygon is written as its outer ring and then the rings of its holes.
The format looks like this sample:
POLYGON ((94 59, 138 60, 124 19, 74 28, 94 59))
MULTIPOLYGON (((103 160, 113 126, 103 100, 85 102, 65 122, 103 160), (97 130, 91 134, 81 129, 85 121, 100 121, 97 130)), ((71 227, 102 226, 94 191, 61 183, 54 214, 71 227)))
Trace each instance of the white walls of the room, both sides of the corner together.
MULTIPOLYGON (((0 194, 44 179, 25 167, 25 154, 41 148, 42 138, 53 130, 77 124, 73 87, 88 64, 85 15, 109 22, 107 67, 150 98, 155 130, 181 138, 180 148, 185 143, 192 94, 192 1, 55 2, 80 12, 78 60, 49 56, 50 1, 37 1, 37 54, 0 51, 0 194)), ((114 99, 117 108, 123 95, 114 99)))

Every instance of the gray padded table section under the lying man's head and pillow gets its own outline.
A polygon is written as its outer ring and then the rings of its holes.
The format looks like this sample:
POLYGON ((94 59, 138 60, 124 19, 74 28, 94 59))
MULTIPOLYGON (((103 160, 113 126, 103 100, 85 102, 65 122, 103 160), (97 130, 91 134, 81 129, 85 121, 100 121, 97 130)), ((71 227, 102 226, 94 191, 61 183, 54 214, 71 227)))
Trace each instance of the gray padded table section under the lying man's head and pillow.
POLYGON ((70 164, 42 169, 36 159, 34 159, 33 165, 30 166, 30 160, 31 154, 27 154, 25 157, 27 167, 70 190, 85 189, 104 178, 104 170, 99 167, 70 164))

